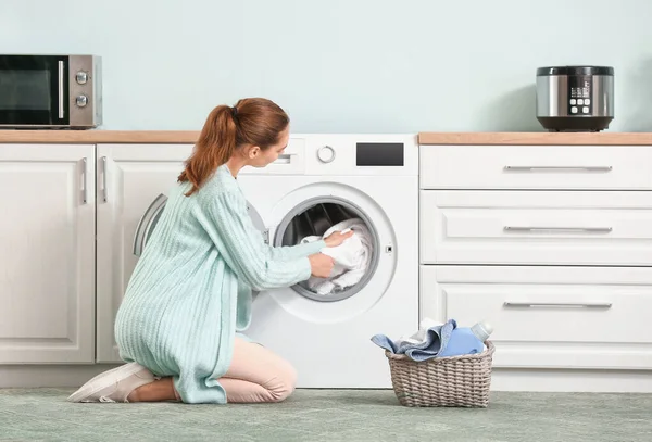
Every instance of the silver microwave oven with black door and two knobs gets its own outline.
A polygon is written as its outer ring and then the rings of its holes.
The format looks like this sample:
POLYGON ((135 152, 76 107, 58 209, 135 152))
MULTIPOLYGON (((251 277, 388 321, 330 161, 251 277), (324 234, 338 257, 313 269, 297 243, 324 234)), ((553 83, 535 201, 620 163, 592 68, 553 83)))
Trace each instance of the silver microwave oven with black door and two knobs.
POLYGON ((101 58, 0 54, 0 129, 102 124, 101 58))

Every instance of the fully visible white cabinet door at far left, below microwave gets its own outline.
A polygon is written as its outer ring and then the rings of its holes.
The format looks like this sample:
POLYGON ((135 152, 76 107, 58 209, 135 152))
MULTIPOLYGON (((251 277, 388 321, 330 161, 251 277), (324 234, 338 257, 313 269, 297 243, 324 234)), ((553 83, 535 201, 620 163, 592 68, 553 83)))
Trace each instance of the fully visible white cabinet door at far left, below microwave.
POLYGON ((0 144, 0 364, 95 358, 95 146, 0 144))

